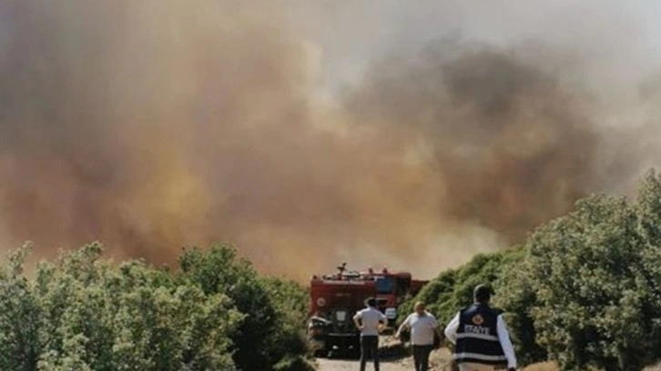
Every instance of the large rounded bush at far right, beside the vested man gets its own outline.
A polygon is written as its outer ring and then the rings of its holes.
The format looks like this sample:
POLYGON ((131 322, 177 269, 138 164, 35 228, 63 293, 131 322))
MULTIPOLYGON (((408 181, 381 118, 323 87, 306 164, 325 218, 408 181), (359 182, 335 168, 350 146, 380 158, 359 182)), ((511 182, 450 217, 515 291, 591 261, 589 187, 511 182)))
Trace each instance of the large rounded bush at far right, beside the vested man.
POLYGON ((659 281, 636 211, 624 197, 588 197, 528 242, 537 341, 563 369, 639 370, 656 358, 659 281))

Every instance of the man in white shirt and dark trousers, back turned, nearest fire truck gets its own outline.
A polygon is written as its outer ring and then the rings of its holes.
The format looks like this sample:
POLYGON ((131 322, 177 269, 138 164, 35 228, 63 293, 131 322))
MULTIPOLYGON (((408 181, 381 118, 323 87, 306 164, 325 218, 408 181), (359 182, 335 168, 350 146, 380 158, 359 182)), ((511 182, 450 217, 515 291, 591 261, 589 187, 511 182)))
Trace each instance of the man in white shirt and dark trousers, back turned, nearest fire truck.
POLYGON ((369 356, 374 361, 374 371, 379 371, 379 330, 388 319, 376 308, 373 297, 367 299, 365 304, 367 307, 353 316, 353 322, 361 330, 361 371, 365 371, 369 356))

